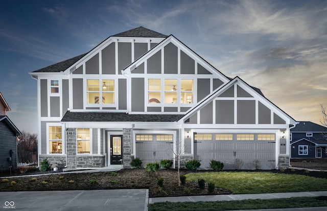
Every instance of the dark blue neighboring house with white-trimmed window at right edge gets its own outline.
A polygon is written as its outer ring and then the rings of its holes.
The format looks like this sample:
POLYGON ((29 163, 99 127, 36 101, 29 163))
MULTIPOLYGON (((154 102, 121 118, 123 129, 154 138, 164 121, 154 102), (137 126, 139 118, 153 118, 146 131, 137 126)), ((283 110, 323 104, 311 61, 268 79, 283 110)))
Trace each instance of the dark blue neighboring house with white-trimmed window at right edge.
POLYGON ((327 158, 327 127, 299 122, 290 133, 291 158, 327 158))

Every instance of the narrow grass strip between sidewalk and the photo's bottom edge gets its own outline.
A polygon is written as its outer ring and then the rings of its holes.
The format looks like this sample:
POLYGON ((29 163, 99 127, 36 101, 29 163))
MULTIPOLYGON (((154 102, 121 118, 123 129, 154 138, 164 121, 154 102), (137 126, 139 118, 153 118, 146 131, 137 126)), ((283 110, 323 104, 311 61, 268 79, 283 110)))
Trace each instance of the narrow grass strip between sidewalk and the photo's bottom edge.
POLYGON ((240 201, 213 202, 160 202, 149 204, 149 211, 206 211, 206 210, 239 210, 239 209, 280 209, 294 207, 327 206, 327 201, 317 197, 293 197, 286 199, 247 199, 240 201))

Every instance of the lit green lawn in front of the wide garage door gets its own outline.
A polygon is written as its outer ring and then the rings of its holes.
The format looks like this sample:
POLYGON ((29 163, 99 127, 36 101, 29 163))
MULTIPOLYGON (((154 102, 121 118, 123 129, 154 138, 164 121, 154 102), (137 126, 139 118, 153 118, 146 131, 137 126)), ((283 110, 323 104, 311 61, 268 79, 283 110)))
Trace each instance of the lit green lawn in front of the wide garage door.
POLYGON ((204 179, 233 194, 326 191, 327 179, 269 172, 203 172, 186 174, 189 181, 204 179))

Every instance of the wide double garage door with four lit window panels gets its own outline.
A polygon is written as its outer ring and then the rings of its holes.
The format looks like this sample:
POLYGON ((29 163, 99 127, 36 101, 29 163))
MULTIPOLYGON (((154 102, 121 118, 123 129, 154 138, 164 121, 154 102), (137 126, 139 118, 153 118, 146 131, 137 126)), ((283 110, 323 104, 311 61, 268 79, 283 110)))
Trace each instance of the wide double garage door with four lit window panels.
POLYGON ((201 168, 209 169, 210 161, 219 160, 224 169, 236 169, 235 159, 242 161, 242 169, 273 169, 275 134, 197 133, 194 135, 194 158, 201 160, 201 168))

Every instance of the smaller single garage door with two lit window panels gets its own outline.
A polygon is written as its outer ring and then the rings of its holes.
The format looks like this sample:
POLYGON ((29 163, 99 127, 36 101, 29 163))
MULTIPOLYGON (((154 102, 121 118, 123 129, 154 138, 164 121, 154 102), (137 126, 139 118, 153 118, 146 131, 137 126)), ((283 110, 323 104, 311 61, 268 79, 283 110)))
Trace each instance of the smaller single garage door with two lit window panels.
POLYGON ((159 162, 161 159, 173 159, 173 134, 136 134, 135 157, 143 161, 159 162))

